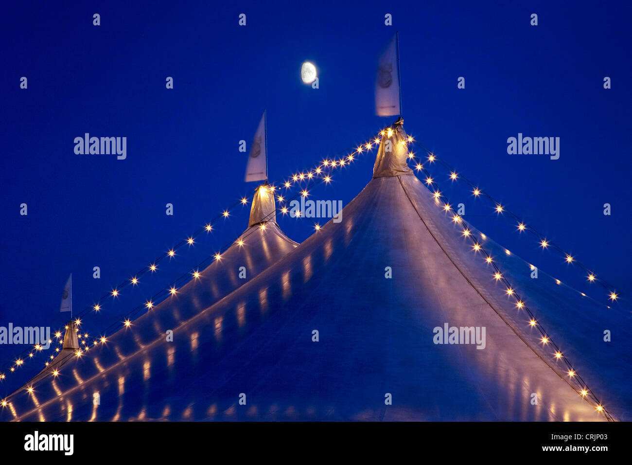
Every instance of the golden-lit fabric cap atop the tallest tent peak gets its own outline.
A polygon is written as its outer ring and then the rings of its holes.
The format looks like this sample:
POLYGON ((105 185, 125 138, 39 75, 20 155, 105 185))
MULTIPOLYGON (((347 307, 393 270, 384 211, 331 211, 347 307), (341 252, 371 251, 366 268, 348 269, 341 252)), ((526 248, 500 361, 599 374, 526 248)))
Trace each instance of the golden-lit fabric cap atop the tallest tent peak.
POLYGON ((377 151, 373 167, 374 178, 399 175, 411 175, 408 167, 408 135, 404 131, 404 118, 401 116, 381 132, 380 148, 377 151))

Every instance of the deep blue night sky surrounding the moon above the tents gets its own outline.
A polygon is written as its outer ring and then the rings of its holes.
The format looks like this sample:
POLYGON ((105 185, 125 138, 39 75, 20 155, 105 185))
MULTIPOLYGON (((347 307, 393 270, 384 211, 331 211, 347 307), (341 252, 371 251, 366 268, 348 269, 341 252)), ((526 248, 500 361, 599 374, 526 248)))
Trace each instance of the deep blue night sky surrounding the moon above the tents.
MULTIPOLYGON (((374 80, 377 56, 396 30, 406 131, 628 300, 630 13, 609 2, 5 5, 0 325, 58 328, 68 318, 59 300, 69 273, 79 310, 250 197, 255 184, 243 182, 238 144, 249 146, 264 108, 271 180, 391 123, 375 116, 374 80), (306 60, 317 66, 319 89, 300 80, 306 60), (20 89, 23 76, 28 89, 20 89), (457 89, 461 76, 465 89, 457 89), (606 76, 612 89, 603 87, 606 76), (75 154, 73 140, 86 132, 127 137, 127 158, 75 154), (507 137, 519 132, 560 137, 560 158, 507 154, 507 137), (28 216, 20 216, 22 203, 28 216)), ((312 198, 348 203, 370 180, 373 162, 365 155, 312 198)), ((451 188, 448 173, 430 170, 453 204, 466 204, 473 225, 606 301, 581 270, 519 237, 513 221, 465 187, 451 188)), ((231 242, 249 208, 87 324, 109 325, 231 242)), ((309 220, 277 221, 298 242, 313 232, 309 220)), ((2 365, 16 352, 0 346, 2 365)))

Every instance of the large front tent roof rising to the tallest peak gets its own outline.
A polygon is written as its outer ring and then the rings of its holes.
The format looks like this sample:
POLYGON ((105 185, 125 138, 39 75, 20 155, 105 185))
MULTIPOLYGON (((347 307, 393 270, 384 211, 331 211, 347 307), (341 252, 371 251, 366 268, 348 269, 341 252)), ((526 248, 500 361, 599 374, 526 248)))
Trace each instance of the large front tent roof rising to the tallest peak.
POLYGON ((13 399, 20 419, 632 419, 628 314, 542 271, 530 278, 529 264, 451 221, 406 167, 405 140, 401 126, 382 138, 374 178, 341 222, 203 311, 183 308, 195 306, 188 294, 197 290, 183 288, 170 309, 186 318, 139 319, 108 350, 13 399), (493 278, 494 264, 546 329, 546 344, 493 278), (484 348, 435 344, 446 324, 484 327, 484 348), (553 343, 566 358, 556 359, 553 343), (121 360, 104 364, 112 352, 121 360))

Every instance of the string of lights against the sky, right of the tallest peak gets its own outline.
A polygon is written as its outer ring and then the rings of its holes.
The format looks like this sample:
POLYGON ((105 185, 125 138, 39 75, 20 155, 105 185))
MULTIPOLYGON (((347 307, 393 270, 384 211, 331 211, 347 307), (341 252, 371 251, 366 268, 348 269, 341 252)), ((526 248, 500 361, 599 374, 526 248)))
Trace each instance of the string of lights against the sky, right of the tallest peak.
MULTIPOLYGON (((420 144, 417 141, 415 141, 415 145, 418 146, 420 149, 422 149, 423 151, 425 151, 427 153, 427 160, 428 160, 429 163, 437 162, 437 163, 441 164, 442 166, 444 166, 447 170, 449 170, 450 171, 449 178, 451 180, 453 180, 453 181, 459 180, 461 182, 465 182, 472 189, 471 193, 472 193, 472 195, 474 195, 474 197, 485 197, 485 198, 489 199, 489 201, 492 202, 492 204, 494 204, 494 210, 495 210, 495 212, 497 214, 499 214, 499 215, 507 214, 507 216, 513 218, 513 220, 516 222, 516 226, 517 226, 516 230, 518 232, 525 232, 526 231, 526 232, 532 233, 533 235, 535 235, 537 237, 537 239, 539 241, 539 244, 540 244, 540 247, 542 247, 542 249, 555 250, 555 251, 559 252, 559 254, 561 254, 564 257, 564 260, 566 261, 566 263, 568 263, 568 264, 575 264, 576 266, 580 266, 580 268, 585 271, 586 279, 588 280, 588 282, 590 282, 590 283, 600 283, 600 285, 602 285, 607 291, 609 291, 608 298, 612 302, 617 301, 617 299, 620 299, 619 294, 617 294, 614 286, 611 283, 608 283, 607 281, 603 280, 602 278, 599 278, 594 271, 590 270, 590 268, 585 266, 585 264, 583 264, 580 261, 578 261, 578 259, 576 259, 576 257, 574 257, 571 254, 569 254, 568 252, 564 251, 564 249, 562 249, 561 247, 559 247, 559 245, 557 245, 554 242, 552 242, 552 240, 547 239, 547 237, 545 237, 544 234, 538 232, 538 230, 533 228, 533 226, 526 225, 525 221, 523 221, 520 218, 520 216, 518 216, 517 214, 513 213, 513 211, 508 209, 506 206, 503 206, 501 202, 499 202, 496 199, 494 199, 494 197, 492 197, 491 195, 487 194, 486 192, 483 192, 481 189, 478 188, 478 185, 476 183, 471 182, 471 180, 469 180, 468 178, 466 178, 463 175, 460 175, 459 173, 457 173, 457 171, 454 170, 454 168, 452 166, 450 166, 443 159, 441 159, 438 156, 436 156, 432 151, 428 150, 425 146, 423 146, 422 144, 420 144)), ((414 158, 414 156, 412 156, 412 157, 409 156, 409 158, 414 158)), ((420 163, 417 163, 416 166, 414 166, 413 168, 415 168, 415 170, 420 170, 420 167, 423 167, 423 165, 420 164, 420 163)), ((428 175, 427 180, 428 179, 432 180, 432 177, 430 177, 430 175, 428 175)), ((427 180, 425 182, 427 182, 427 180)), ((557 284, 561 283, 559 280, 556 280, 556 282, 557 282, 557 284)), ((608 308, 610 308, 610 307, 608 306, 608 308)))

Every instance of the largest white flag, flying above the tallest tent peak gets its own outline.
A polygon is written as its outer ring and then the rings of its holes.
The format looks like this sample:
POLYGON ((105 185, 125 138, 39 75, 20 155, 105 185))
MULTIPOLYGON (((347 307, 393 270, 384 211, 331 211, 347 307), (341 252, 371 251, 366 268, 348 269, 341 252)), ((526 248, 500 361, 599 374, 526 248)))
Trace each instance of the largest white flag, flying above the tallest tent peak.
POLYGON ((397 35, 380 56, 375 80, 375 113, 378 116, 401 115, 399 108, 399 70, 397 35))

